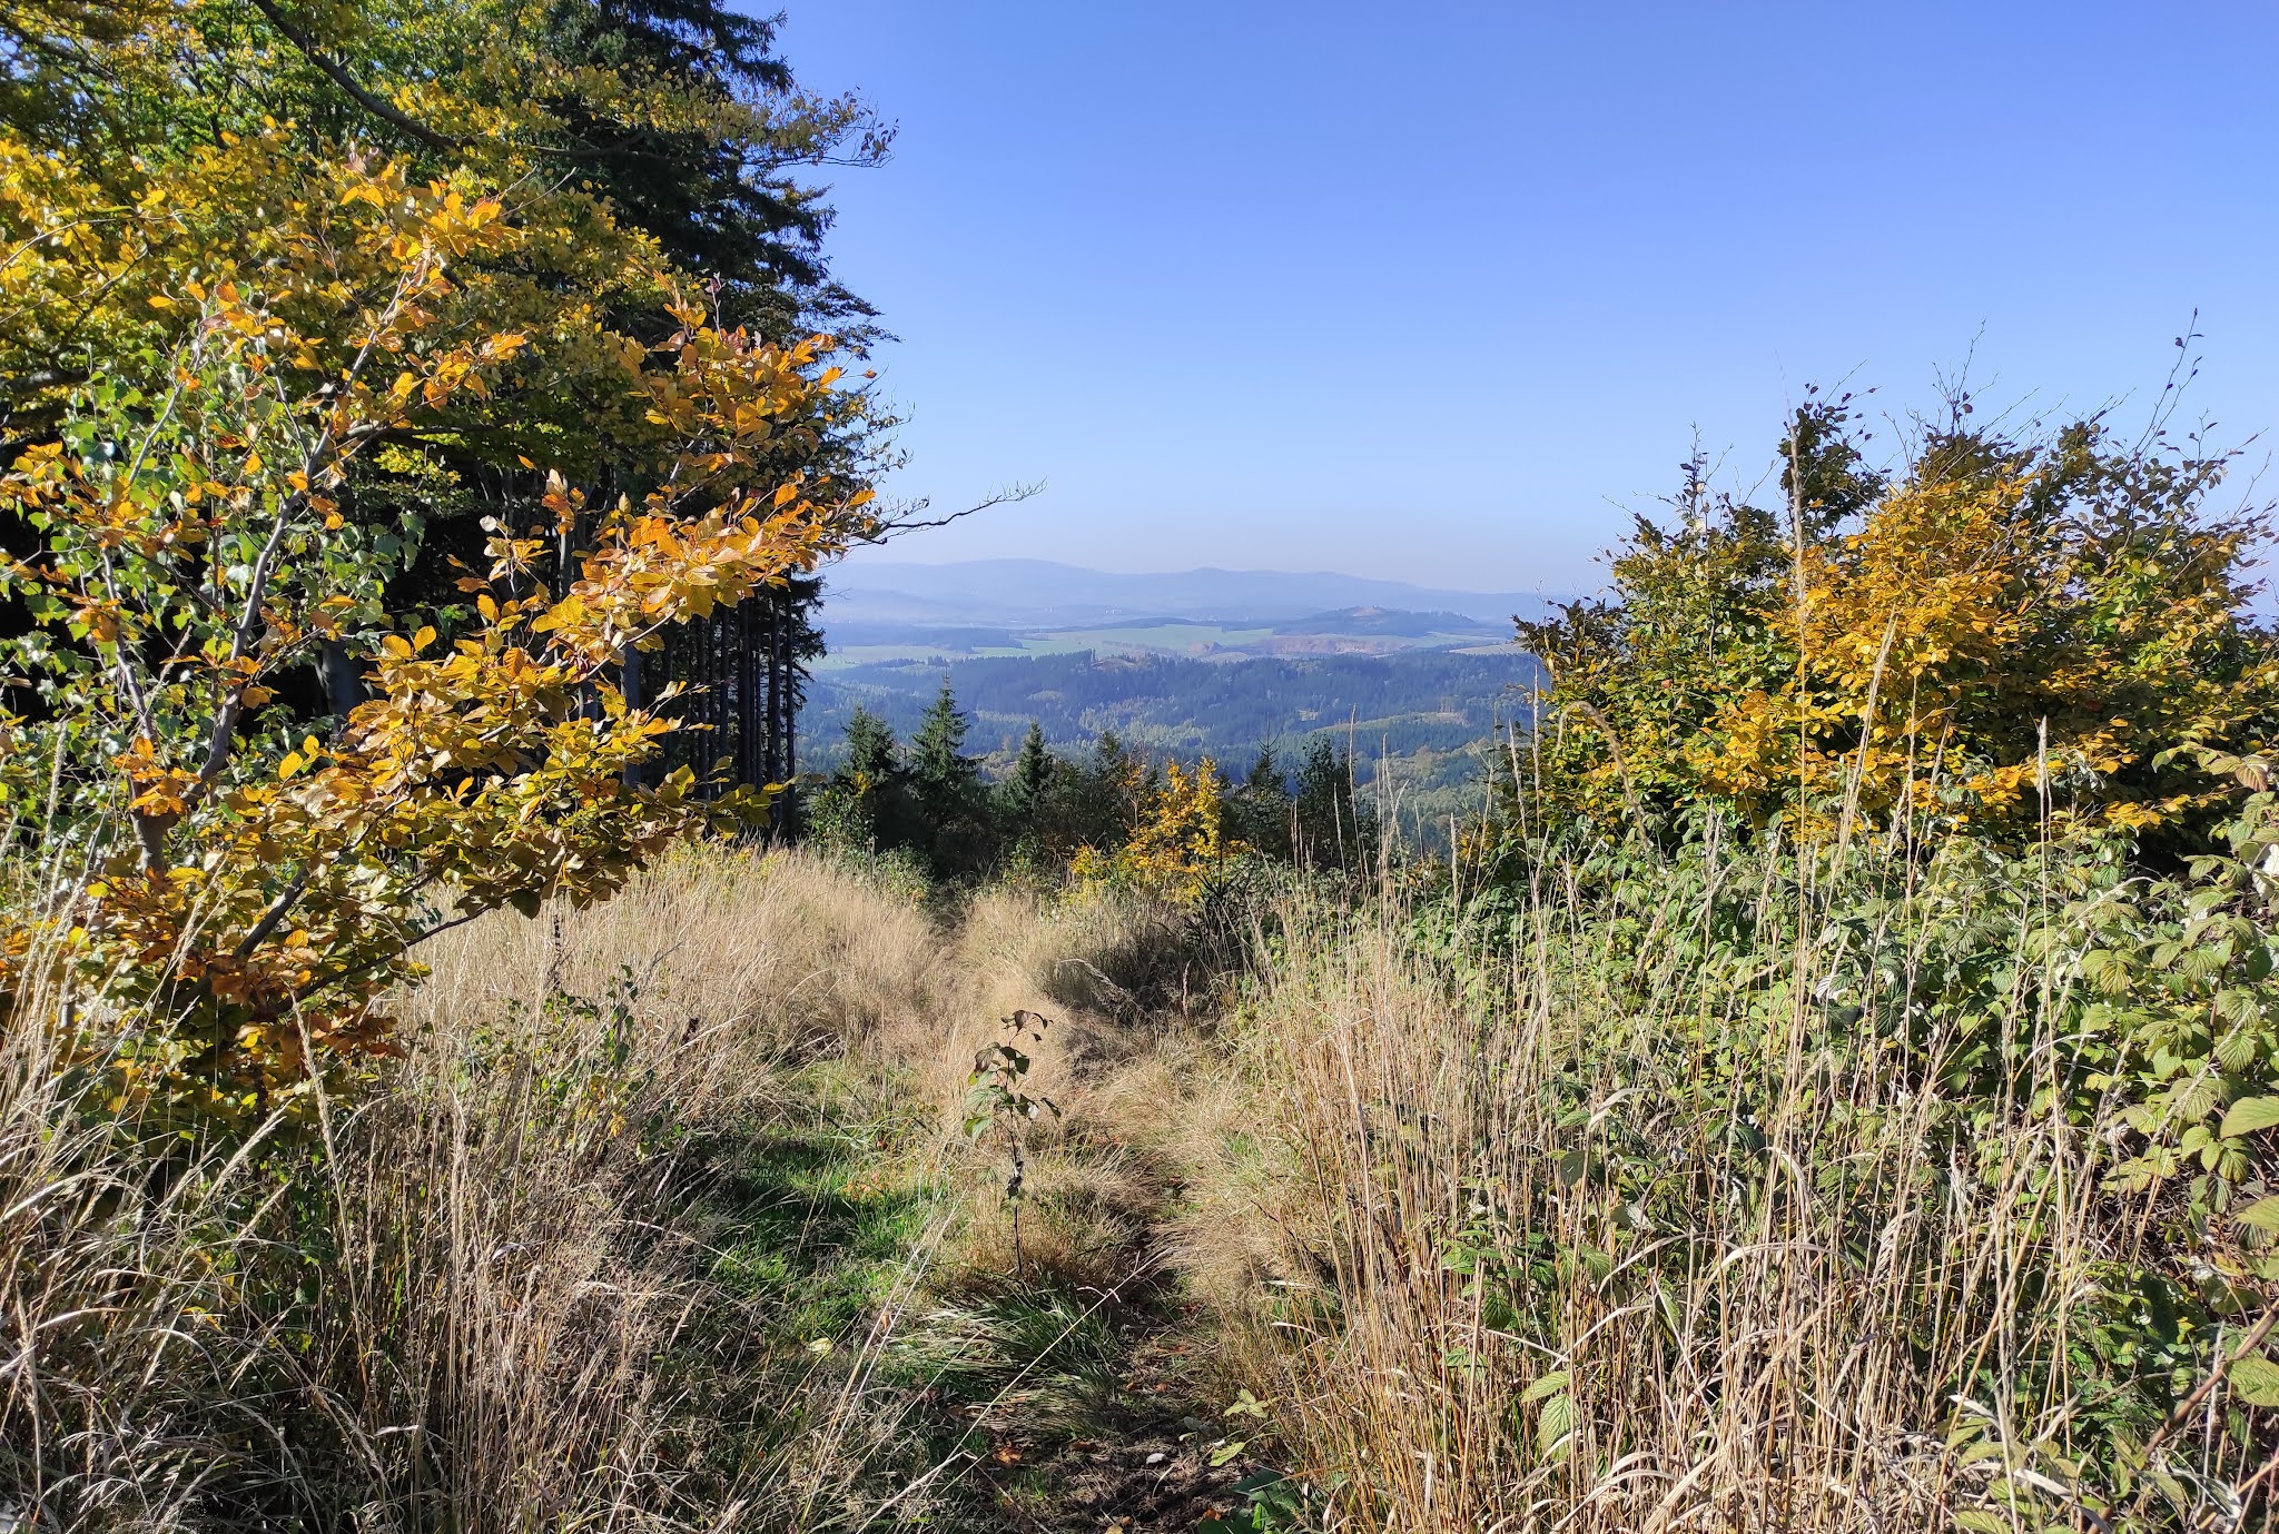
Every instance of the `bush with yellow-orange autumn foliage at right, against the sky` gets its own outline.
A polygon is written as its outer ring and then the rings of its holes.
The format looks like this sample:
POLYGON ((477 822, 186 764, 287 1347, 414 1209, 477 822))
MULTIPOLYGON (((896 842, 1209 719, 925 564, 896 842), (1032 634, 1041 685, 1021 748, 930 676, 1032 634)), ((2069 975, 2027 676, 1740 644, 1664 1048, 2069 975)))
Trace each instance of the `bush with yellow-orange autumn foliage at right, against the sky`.
POLYGON ((1778 511, 1691 465, 1611 599, 1520 625, 1550 802, 1609 827, 1707 802, 1803 837, 2206 821, 2222 789, 2174 752, 2279 723, 2279 650, 2245 611, 2265 517, 2208 506, 2229 460, 2099 419, 2010 440, 1958 408, 1887 479, 1846 426, 1844 401, 1798 410, 1778 511))

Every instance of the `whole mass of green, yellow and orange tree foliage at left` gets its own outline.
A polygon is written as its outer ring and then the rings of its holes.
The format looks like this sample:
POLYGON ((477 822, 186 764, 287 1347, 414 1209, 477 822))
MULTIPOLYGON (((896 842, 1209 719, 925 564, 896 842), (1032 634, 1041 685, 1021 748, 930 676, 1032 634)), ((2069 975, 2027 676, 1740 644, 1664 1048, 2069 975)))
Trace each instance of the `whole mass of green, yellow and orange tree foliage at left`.
POLYGON ((650 770, 675 718, 640 654, 877 529, 834 342, 754 328, 804 299, 706 283, 654 207, 542 173, 572 96, 695 132, 691 176, 841 116, 766 128, 695 64, 526 91, 602 43, 517 7, 255 11, 0 11, 25 80, 89 107, 0 125, 0 814, 39 857, 0 1005, 164 1121, 346 1087, 419 939, 741 823, 766 793, 650 770), (362 89, 319 21, 424 84, 362 89), (269 112, 217 89, 269 66, 269 112))

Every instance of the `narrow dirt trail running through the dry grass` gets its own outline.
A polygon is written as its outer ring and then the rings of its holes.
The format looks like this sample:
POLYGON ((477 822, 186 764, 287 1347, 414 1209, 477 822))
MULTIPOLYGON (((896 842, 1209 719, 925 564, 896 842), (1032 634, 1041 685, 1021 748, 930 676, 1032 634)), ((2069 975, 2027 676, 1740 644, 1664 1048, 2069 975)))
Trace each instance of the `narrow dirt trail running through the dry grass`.
MULTIPOLYGON (((1237 1482, 1258 1470, 1210 1404, 1224 1379, 1206 1368, 1208 1317, 1185 1302, 1169 1258, 1183 1167, 1162 1126, 1196 1067, 1201 996, 1190 955, 1165 962, 1162 932, 1092 941, 1039 941, 1032 928, 1026 944, 964 946, 975 1017, 1019 1005, 1055 1019, 1026 1046, 1037 1051, 1032 1085, 1067 1117, 1037 1153, 1026 1208, 1046 1242, 1060 1224, 1064 1260, 1046 1272, 1032 1263, 1026 1299, 1073 1311, 1069 1338, 1032 1338, 1016 1386, 964 1406, 989 1441, 969 1475, 987 1488, 996 1527, 1190 1534, 1235 1511, 1237 1482), (1167 1048, 1174 1039, 1185 1044, 1167 1048), (1108 1231, 1101 1249, 1069 1251, 1108 1231)), ((987 1217, 987 1174, 978 1188, 973 1208, 987 1217)))

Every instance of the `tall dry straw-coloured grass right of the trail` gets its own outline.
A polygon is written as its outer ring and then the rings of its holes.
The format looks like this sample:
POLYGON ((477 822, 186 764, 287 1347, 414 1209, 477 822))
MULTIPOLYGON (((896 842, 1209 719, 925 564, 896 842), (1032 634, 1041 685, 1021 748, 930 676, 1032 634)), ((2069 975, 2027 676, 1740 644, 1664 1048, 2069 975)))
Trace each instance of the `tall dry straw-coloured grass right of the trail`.
POLYGON ((2265 1527, 2233 1486, 2270 1441, 2213 1400, 2117 1504, 2083 1459, 2147 1208, 2031 1108, 2065 953, 2024 935, 1994 944, 2028 1094, 1974 1105, 1873 1014, 1830 1046, 1835 941, 1741 985, 1570 894, 1468 957, 1397 900, 1292 912, 1244 1087, 1187 1105, 1181 1263, 1228 1388, 1274 1397, 1335 1527, 2265 1527))

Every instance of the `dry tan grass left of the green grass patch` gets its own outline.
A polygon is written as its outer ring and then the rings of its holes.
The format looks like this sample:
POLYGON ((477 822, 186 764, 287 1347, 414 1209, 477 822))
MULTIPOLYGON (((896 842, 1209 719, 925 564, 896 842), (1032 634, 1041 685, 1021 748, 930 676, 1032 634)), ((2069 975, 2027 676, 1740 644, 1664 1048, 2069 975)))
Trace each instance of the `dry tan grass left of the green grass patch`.
POLYGON ((934 948, 861 880, 688 852, 447 935, 378 1092, 212 1147, 134 1144, 18 1007, 0 1486, 52 1527, 809 1527, 893 1411, 861 1356, 750 1347, 688 1147, 779 1117, 786 1058, 918 1026, 934 948))

